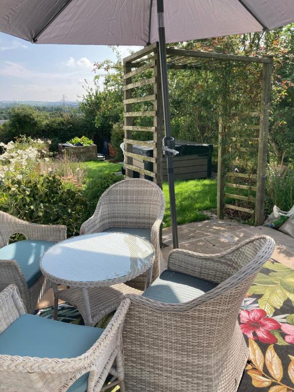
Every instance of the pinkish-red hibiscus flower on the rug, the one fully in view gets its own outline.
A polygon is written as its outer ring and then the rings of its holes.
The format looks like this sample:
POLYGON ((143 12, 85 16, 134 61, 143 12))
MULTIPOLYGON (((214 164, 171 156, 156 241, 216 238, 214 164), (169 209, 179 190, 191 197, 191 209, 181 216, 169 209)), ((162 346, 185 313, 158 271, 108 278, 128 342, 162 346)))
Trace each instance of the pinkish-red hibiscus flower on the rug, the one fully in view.
POLYGON ((280 329, 280 323, 274 320, 274 318, 266 317, 265 310, 253 309, 249 311, 243 309, 240 311, 240 321, 242 323, 240 329, 248 337, 259 339, 267 344, 277 343, 278 339, 269 331, 280 329))

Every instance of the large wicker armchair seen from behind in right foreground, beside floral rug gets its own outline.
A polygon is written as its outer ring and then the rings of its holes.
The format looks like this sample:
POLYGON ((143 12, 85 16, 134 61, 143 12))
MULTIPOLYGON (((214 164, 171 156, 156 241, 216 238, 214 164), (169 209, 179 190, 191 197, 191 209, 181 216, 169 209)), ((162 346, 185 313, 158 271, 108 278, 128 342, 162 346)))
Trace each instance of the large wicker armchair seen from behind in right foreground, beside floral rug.
POLYGON ((260 236, 217 255, 171 251, 168 270, 142 296, 126 296, 127 392, 235 392, 248 359, 238 311, 274 247, 260 236))

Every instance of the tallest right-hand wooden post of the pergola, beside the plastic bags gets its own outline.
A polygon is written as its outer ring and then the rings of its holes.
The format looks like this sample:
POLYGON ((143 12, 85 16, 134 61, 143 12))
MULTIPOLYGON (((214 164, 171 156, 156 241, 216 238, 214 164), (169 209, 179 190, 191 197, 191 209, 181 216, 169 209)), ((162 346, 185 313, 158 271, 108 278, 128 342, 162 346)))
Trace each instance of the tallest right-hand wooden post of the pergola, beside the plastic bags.
POLYGON ((271 101, 272 71, 273 63, 264 63, 262 65, 262 92, 257 165, 255 226, 260 226, 264 222, 264 194, 267 165, 269 105, 271 101))

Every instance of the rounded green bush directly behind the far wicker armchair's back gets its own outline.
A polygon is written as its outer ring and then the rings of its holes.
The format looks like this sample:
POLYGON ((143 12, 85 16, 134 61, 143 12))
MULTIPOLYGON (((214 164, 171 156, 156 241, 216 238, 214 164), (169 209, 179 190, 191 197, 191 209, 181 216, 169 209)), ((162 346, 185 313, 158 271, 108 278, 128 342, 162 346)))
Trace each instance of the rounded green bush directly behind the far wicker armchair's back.
POLYGON ((114 173, 101 174, 91 179, 85 189, 83 190, 84 197, 89 203, 89 216, 90 217, 95 211, 96 205, 104 191, 109 188, 112 184, 118 181, 124 180, 124 176, 116 175, 114 173))

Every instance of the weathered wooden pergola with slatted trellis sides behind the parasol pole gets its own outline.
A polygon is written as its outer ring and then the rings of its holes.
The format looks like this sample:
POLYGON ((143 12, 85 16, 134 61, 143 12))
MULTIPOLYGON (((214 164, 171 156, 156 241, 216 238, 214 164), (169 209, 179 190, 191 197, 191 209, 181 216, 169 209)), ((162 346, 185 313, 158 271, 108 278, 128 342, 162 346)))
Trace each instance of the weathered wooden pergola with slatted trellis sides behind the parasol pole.
MULTIPOLYGON (((219 120, 218 172, 217 172, 217 216, 223 218, 224 208, 230 208, 255 214, 255 225, 264 220, 264 193, 267 164, 267 143, 269 127, 269 103, 271 95, 271 75, 273 59, 271 57, 237 56, 223 53, 200 52, 167 48, 167 65, 169 69, 205 69, 205 61, 234 61, 261 64, 262 83, 259 108, 248 113, 256 119, 250 125, 257 152, 256 174, 235 173, 224 159, 228 144, 226 129, 222 119, 219 120), (256 134, 258 133, 258 134, 256 134), (242 184, 239 180, 242 179, 242 184), (244 184, 245 182, 245 184, 244 184), (246 182, 248 182, 246 184, 246 182), (247 190, 248 195, 225 192, 226 188, 247 190), (254 191, 256 194, 252 195, 254 191), (226 199, 235 200, 236 204, 226 203, 226 199), (255 208, 242 207, 237 203, 250 202, 255 208)), ((162 154, 162 138, 164 136, 164 120, 162 91, 160 78, 160 61, 158 43, 144 47, 142 50, 123 59, 124 62, 124 131, 125 131, 125 167, 126 176, 133 177, 133 171, 140 176, 149 176, 160 187, 162 171, 166 167, 162 154), (141 105, 141 108, 140 108, 141 105), (146 109, 146 107, 148 107, 146 109), (151 110, 152 109, 152 110, 151 110), (142 124, 142 119, 145 123, 142 124), (146 137, 148 135, 148 137, 146 137), (149 139, 147 142, 145 139, 149 139), (133 153, 133 145, 152 147, 153 157, 133 153), (146 162, 153 164, 153 169, 145 169, 146 162)), ((235 141, 232 140, 232 145, 235 141)), ((246 153, 246 149, 241 149, 246 153)))

